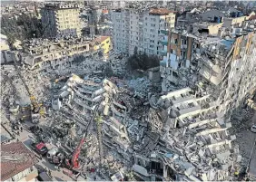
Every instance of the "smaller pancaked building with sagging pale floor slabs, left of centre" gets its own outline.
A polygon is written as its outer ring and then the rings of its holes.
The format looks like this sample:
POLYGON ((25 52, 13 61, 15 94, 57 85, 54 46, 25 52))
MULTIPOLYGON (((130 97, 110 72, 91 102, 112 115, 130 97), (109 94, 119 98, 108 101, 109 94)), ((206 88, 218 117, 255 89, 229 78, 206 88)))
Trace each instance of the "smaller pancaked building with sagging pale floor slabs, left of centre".
POLYGON ((82 114, 92 113, 98 106, 107 115, 110 96, 115 93, 112 82, 103 80, 103 84, 90 80, 83 80, 73 74, 61 89, 59 95, 52 102, 55 110, 60 110, 63 105, 82 114))

